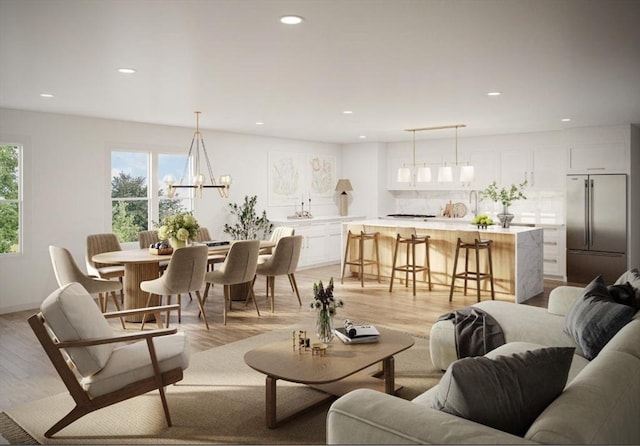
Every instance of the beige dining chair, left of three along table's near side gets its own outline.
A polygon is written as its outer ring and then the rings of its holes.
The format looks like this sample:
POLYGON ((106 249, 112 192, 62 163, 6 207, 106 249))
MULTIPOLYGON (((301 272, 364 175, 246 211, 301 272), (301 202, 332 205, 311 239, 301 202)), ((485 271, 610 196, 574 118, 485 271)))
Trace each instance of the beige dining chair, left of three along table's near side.
MULTIPOLYGON (((153 280, 140 282, 140 289, 149 293, 146 306, 151 305, 153 295, 167 296, 167 304, 171 304, 171 296, 177 296, 178 322, 182 321, 182 302, 180 296, 185 293, 195 291, 200 313, 204 323, 209 329, 207 317, 204 314, 204 301, 200 294, 200 289, 204 285, 204 274, 207 272, 206 245, 192 245, 179 248, 173 251, 169 265, 162 276, 153 280)), ((142 318, 142 328, 146 321, 146 315, 142 318)))

